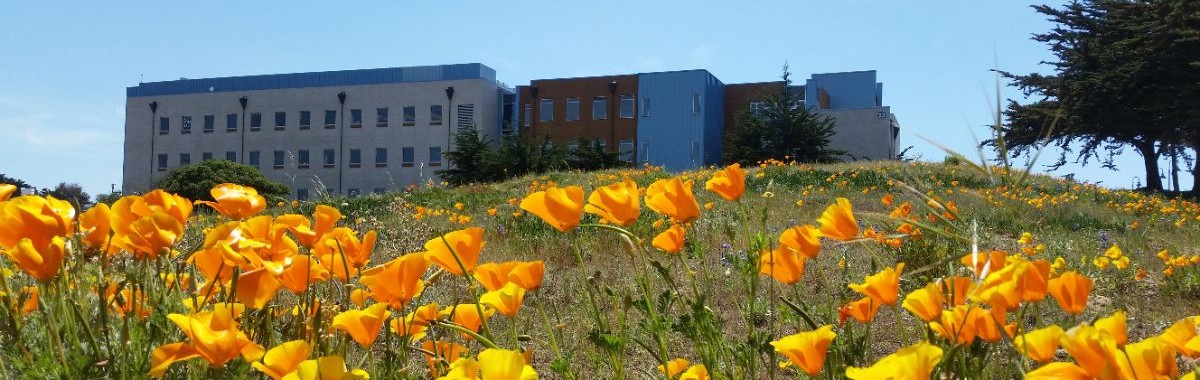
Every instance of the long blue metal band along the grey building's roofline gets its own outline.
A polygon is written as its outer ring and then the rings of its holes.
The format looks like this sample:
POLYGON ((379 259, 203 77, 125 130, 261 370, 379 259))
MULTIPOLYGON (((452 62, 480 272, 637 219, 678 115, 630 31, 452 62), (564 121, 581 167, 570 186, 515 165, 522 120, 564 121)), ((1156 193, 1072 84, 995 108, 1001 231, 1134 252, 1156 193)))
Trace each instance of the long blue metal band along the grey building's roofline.
POLYGON ((125 90, 125 96, 163 96, 179 94, 256 91, 458 79, 487 79, 494 82, 496 70, 482 64, 462 64, 180 79, 143 83, 137 86, 127 88, 125 90))

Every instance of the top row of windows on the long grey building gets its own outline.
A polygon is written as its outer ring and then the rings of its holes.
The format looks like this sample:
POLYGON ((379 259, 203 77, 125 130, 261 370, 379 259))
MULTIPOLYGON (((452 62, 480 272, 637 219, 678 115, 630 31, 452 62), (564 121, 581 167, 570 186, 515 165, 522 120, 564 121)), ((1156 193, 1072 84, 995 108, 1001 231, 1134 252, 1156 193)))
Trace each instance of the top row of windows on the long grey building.
MULTIPOLYGON (((430 105, 428 121, 431 126, 442 125, 442 105, 430 105)), ((416 126, 416 107, 404 107, 402 126, 410 127, 416 126)), ((326 109, 325 110, 324 126, 325 129, 334 129, 337 127, 337 110, 326 109)), ((312 127, 312 111, 301 110, 299 111, 299 128, 310 129, 312 127)), ((180 133, 188 134, 192 133, 192 116, 179 116, 180 133)), ((288 113, 276 111, 275 113, 275 131, 284 131, 288 126, 288 113)), ((350 109, 350 128, 362 127, 362 110, 350 109)), ((388 108, 376 108, 376 127, 388 127, 388 108)), ((259 131, 263 128, 263 114, 251 113, 250 114, 250 131, 259 131)), ((204 115, 204 133, 212 133, 216 129, 216 115, 204 115)), ((226 132, 238 132, 238 114, 226 115, 226 132)), ((170 117, 158 117, 158 134, 170 133, 170 117)))

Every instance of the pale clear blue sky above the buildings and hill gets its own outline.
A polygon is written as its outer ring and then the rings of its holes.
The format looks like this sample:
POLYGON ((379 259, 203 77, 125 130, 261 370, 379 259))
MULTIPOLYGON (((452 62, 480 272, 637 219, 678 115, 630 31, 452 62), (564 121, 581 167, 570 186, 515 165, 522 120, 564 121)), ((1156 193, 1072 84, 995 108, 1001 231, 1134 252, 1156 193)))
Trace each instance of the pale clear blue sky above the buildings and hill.
MULTIPOLYGON (((38 187, 120 183, 125 88, 265 73, 481 62, 502 82, 707 68, 725 83, 876 70, 900 146, 974 156, 990 68, 1045 71, 1022 1, 5 1, 0 173, 38 187)), ((1003 89, 1006 97, 1018 96, 1003 89)), ((1054 156, 1054 155, 1045 155, 1054 156)), ((1066 168, 1128 187, 1142 175, 1066 168)), ((1054 157, 1043 157, 1051 162, 1054 157)), ((1184 187, 1190 177, 1184 180, 1184 187)))

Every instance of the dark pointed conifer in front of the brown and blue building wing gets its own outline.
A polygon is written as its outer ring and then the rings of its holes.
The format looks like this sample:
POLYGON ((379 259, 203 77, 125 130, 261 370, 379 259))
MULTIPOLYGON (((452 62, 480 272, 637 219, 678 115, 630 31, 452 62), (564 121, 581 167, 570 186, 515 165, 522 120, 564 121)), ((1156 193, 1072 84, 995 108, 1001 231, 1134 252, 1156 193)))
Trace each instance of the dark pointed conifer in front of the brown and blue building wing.
POLYGON ((791 73, 784 65, 784 83, 763 99, 764 107, 738 115, 737 128, 725 144, 725 161, 743 165, 766 159, 833 162, 842 151, 829 149, 836 134, 833 117, 817 115, 803 105, 799 94, 790 90, 791 73))

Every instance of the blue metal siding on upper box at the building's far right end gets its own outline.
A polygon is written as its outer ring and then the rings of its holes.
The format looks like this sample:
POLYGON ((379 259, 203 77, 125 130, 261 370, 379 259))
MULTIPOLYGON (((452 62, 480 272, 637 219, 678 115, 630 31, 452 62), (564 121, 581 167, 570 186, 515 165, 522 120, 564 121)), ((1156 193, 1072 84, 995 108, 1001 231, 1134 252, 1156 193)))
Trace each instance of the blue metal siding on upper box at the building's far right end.
POLYGON ((805 103, 820 107, 820 89, 829 95, 830 109, 876 107, 881 88, 875 82, 875 71, 812 74, 805 82, 805 103))

